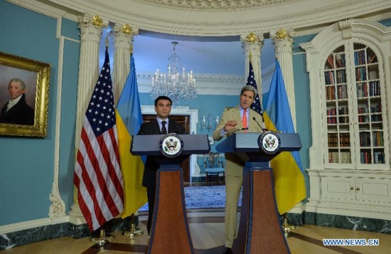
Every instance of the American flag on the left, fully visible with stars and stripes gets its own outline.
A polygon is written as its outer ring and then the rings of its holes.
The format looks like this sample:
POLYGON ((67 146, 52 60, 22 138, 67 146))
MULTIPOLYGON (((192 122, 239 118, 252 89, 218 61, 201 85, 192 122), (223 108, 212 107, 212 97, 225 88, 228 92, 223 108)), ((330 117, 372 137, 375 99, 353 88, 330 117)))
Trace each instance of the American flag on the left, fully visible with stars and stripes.
POLYGON ((109 53, 85 112, 73 182, 90 231, 124 209, 124 181, 119 161, 109 53))

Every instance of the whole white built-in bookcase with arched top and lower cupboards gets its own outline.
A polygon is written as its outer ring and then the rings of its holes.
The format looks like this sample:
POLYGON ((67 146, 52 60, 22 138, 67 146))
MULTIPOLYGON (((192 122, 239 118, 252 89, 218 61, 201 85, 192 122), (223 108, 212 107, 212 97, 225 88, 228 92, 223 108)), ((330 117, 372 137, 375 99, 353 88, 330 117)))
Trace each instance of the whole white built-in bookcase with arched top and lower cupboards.
POLYGON ((311 98, 306 212, 391 221, 391 28, 349 19, 300 46, 311 98))

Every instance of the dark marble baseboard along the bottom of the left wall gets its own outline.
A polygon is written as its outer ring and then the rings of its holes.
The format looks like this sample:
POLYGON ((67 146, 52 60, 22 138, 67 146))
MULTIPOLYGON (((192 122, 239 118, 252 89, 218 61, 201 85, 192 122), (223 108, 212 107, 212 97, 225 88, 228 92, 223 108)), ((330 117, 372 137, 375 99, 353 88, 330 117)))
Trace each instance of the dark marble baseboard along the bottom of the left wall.
MULTIPOLYGON (((139 216, 134 216, 134 223, 139 226, 139 216)), ((105 233, 130 230, 130 217, 114 218, 105 225, 105 233)), ((58 223, 54 225, 28 228, 0 235, 0 250, 14 248, 20 245, 36 243, 41 240, 50 240, 70 236, 72 238, 85 238, 87 236, 100 236, 100 230, 90 232, 87 224, 75 225, 73 223, 58 223)))

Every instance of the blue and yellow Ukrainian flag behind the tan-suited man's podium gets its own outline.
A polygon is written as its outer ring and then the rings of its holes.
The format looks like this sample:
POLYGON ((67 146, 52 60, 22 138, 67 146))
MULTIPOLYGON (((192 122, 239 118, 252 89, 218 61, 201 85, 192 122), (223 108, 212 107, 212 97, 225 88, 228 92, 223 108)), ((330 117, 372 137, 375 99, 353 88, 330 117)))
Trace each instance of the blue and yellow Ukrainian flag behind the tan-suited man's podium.
MULTIPOLYGON (((295 133, 284 78, 282 78, 277 59, 269 95, 264 107, 264 123, 266 128, 270 130, 295 133)), ((272 159, 271 166, 277 206, 279 213, 283 214, 306 198, 304 170, 301 166, 299 152, 282 152, 272 159)))

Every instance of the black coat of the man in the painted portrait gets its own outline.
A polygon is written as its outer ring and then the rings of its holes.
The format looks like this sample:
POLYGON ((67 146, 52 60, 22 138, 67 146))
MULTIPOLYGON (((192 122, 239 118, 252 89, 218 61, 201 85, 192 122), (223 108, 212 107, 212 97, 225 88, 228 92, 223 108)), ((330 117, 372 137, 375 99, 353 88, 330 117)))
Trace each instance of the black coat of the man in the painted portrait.
POLYGON ((7 105, 1 109, 0 122, 14 125, 34 125, 34 110, 27 105, 25 95, 7 112, 7 105))

